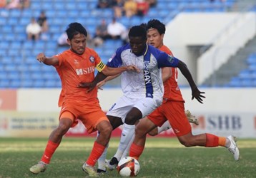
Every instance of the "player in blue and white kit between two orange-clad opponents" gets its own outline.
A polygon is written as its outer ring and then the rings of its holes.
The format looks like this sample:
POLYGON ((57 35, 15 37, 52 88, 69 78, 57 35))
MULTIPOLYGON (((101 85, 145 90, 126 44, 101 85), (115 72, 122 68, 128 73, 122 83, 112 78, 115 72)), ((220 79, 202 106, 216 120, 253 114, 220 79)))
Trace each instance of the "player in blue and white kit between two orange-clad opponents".
MULTIPOLYGON (((112 124, 113 130, 124 123, 119 147, 113 157, 116 159, 114 164, 119 162, 124 150, 127 148, 130 140, 132 140, 135 122, 149 115, 149 113, 162 104, 164 86, 161 68, 179 68, 184 77, 187 78, 192 89, 192 99, 196 98, 202 103, 202 98, 205 98, 202 95, 204 92, 200 92, 197 88, 192 75, 182 61, 147 44, 147 31, 144 27, 132 26, 128 36, 129 43, 118 48, 114 56, 107 63, 107 66, 113 68, 133 64, 141 71, 140 73, 122 73, 122 90, 124 95, 107 112, 107 117, 112 124)), ((98 73, 98 75, 101 75, 98 77, 101 80, 106 78, 102 73, 98 73)), ((91 90, 99 81, 94 80, 92 83, 80 83, 80 86, 91 90)))

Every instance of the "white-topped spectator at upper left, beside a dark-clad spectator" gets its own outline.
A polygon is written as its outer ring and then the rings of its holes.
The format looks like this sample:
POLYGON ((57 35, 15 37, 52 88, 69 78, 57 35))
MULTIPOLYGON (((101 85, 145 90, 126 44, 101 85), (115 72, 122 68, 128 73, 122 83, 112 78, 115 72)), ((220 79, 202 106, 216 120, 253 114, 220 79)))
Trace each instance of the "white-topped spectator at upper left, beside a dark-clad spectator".
POLYGON ((28 40, 39 40, 41 33, 41 26, 36 22, 34 17, 31 18, 30 23, 26 26, 26 34, 28 40))

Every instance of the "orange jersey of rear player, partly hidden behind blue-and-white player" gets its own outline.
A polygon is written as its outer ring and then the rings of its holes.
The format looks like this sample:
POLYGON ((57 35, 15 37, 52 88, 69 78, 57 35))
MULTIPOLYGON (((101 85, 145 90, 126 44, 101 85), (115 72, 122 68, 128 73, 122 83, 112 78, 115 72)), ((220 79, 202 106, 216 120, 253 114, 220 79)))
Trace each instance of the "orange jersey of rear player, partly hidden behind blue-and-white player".
MULTIPOLYGON (((172 51, 165 45, 159 48, 160 51, 164 51, 165 53, 172 55, 172 51)), ((173 56, 173 55, 172 55, 173 56)), ((178 79, 178 70, 177 68, 172 68, 172 76, 164 82, 164 100, 174 100, 174 101, 182 101, 182 93, 179 90, 179 86, 177 83, 178 79)))

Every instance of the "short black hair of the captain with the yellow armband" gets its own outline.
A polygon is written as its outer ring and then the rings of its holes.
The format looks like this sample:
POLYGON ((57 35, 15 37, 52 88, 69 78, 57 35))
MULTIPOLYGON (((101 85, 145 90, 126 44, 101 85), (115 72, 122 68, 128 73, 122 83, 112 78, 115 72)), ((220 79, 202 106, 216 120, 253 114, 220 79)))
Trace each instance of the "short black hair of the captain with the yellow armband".
POLYGON ((77 22, 69 23, 66 33, 67 33, 67 38, 69 38, 69 40, 72 40, 72 38, 79 33, 87 37, 87 30, 84 28, 84 26, 82 26, 81 23, 77 23, 77 22))

